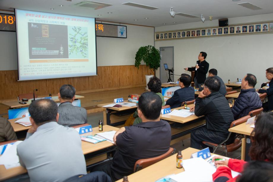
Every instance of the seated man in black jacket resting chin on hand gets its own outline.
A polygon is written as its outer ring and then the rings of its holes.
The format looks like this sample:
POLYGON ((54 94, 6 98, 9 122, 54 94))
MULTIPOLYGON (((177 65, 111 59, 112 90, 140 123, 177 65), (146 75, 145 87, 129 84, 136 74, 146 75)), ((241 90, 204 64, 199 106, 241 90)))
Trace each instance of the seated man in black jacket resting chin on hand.
POLYGON ((205 115, 206 126, 191 132, 191 147, 200 149, 200 145, 206 148, 202 141, 221 143, 228 136, 228 129, 233 114, 229 104, 219 93, 220 81, 215 77, 208 77, 202 90, 195 100, 194 113, 197 116, 205 115), (206 98, 205 98, 206 97, 206 98))

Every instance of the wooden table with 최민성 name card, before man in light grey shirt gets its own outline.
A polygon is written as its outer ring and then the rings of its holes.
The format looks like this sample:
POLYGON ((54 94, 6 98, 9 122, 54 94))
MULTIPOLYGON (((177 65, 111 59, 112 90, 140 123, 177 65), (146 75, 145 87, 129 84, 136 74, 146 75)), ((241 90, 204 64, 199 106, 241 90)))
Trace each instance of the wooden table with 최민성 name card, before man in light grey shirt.
MULTIPOLYGON (((113 126, 103 126, 102 132, 107 131, 118 131, 119 128, 113 126)), ((99 127, 93 128, 93 132, 88 132, 85 134, 80 134, 81 136, 85 135, 94 135, 99 133, 99 127)), ((112 152, 116 149, 116 146, 113 143, 108 141, 99 142, 96 144, 82 141, 82 152, 85 156, 86 168, 90 168, 93 164, 108 160, 107 153, 112 152)), ((69 159, 68 159, 69 160, 69 159)), ((0 181, 26 173, 27 170, 22 167, 14 167, 10 169, 6 169, 4 165, 0 165, 0 181)))

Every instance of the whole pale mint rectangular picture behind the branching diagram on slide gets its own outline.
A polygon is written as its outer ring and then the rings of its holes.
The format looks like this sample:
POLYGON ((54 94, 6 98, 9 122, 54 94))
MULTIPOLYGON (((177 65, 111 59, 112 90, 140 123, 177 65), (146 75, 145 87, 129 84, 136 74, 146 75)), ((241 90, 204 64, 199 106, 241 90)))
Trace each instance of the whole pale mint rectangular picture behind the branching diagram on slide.
POLYGON ((68 26, 69 58, 88 58, 88 28, 68 26))

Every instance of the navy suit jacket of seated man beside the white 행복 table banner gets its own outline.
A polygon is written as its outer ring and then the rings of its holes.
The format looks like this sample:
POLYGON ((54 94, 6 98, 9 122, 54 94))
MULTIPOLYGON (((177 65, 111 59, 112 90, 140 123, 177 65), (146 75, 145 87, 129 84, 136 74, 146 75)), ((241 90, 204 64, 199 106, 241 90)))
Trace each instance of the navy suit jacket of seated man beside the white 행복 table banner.
POLYGON ((194 88, 184 87, 174 91, 174 95, 169 98, 166 105, 170 105, 171 109, 181 107, 182 102, 194 100, 194 88))

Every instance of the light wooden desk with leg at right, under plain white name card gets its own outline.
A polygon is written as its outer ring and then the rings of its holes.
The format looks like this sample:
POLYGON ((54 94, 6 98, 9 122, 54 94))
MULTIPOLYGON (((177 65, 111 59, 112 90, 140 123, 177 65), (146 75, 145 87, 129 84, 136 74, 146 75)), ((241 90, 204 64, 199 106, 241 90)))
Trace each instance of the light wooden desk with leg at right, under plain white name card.
POLYGON ((245 161, 250 161, 250 157, 248 156, 249 148, 251 146, 250 135, 254 129, 250 127, 251 125, 253 124, 246 124, 245 122, 228 129, 229 132, 244 134, 244 138, 242 138, 241 159, 245 161))

